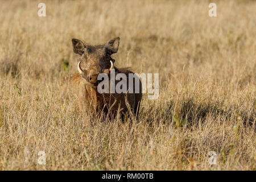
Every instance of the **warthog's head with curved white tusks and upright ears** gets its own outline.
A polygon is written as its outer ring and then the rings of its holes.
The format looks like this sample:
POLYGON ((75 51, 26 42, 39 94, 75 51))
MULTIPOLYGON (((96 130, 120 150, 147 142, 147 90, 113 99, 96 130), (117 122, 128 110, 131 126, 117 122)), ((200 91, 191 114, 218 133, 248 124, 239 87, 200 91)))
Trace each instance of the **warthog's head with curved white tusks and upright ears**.
POLYGON ((119 38, 114 38, 104 45, 90 46, 81 40, 72 39, 73 50, 79 54, 77 69, 90 84, 97 86, 100 73, 108 74, 114 68, 113 53, 118 51, 119 38))

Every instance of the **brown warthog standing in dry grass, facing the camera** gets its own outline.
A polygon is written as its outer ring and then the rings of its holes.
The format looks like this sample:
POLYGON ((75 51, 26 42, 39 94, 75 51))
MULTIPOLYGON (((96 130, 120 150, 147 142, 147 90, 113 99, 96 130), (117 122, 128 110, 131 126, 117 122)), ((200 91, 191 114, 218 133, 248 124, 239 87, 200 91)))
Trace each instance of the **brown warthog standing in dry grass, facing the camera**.
MULTIPOLYGON (((132 78, 133 87, 130 88, 129 73, 133 72, 126 68, 115 67, 115 60, 111 57, 113 53, 118 51, 119 38, 114 38, 106 44, 97 46, 91 46, 78 39, 72 39, 72 44, 73 51, 81 56, 77 64, 79 73, 72 77, 72 81, 79 86, 80 107, 94 114, 103 111, 105 119, 108 119, 109 116, 116 117, 118 110, 122 119, 128 113, 138 116, 142 98, 141 80, 134 75, 132 78), (102 81, 98 81, 98 75, 100 73, 108 75, 107 83, 110 85, 112 79, 110 71, 113 69, 115 75, 118 73, 126 75, 127 92, 110 93, 110 86, 108 93, 98 92, 97 86, 102 81), (135 92, 135 81, 139 81, 139 92, 137 88, 137 93, 135 92), (132 89, 133 93, 128 92, 129 89, 132 89)), ((117 84, 118 81, 115 80, 114 83, 117 84)))

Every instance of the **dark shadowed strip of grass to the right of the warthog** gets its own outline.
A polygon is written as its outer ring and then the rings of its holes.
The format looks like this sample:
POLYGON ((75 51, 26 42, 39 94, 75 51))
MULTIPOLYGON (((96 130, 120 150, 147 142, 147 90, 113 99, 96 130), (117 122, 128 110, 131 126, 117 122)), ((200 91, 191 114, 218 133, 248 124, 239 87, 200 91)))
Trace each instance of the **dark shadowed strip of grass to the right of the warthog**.
MULTIPOLYGON (((154 107, 154 106, 152 106, 154 107)), ((246 106, 232 105, 229 108, 224 107, 221 102, 206 102, 197 103, 193 99, 184 100, 179 104, 179 109, 175 109, 174 102, 170 101, 167 105, 156 109, 154 113, 151 113, 147 121, 154 121, 157 119, 159 122, 172 123, 177 126, 197 127, 199 123, 205 122, 207 117, 213 119, 220 118, 222 121, 229 119, 240 118, 240 121, 245 126, 254 126, 255 123, 255 101, 254 103, 246 106), (154 114, 154 115, 152 115, 154 114)), ((154 111, 154 109, 150 109, 154 111)), ((148 113, 149 114, 149 113, 148 113)))

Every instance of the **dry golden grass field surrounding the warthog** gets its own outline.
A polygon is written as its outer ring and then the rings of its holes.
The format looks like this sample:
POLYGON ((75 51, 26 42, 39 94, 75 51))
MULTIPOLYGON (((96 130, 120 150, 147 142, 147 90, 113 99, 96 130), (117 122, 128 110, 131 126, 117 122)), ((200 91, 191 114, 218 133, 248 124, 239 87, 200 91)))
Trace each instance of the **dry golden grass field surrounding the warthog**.
POLYGON ((1 170, 256 169, 255 1, 39 2, 0 1, 1 170), (115 63, 159 73, 160 93, 102 123, 79 110, 71 39, 117 36, 115 63))

